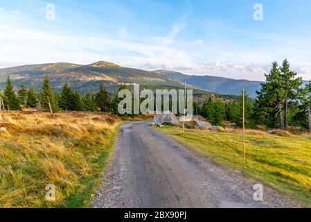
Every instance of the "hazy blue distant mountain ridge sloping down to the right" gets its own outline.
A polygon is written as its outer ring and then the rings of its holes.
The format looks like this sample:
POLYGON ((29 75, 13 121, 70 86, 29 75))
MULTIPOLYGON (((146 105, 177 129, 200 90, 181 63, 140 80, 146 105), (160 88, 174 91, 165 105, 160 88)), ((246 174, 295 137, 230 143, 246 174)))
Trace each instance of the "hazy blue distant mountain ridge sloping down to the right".
MULTIPOLYGON (((209 92, 219 94, 240 95, 241 90, 244 88, 247 94, 252 98, 256 98, 256 90, 260 90, 260 81, 251 80, 236 80, 232 78, 223 78, 217 76, 188 76, 175 71, 157 70, 154 71, 159 74, 170 76, 181 81, 186 81, 190 85, 195 85, 201 89, 206 89, 209 92)), ((304 81, 304 84, 307 81, 304 81)))

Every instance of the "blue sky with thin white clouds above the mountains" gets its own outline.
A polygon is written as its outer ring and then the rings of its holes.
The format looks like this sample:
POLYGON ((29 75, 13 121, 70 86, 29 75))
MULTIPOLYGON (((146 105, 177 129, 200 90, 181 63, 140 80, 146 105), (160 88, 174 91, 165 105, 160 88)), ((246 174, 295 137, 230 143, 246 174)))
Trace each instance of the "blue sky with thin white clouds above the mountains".
POLYGON ((310 0, 0 0, 0 67, 107 60, 263 80, 287 58, 309 80, 310 40, 310 0), (253 19, 255 3, 263 21, 253 19))

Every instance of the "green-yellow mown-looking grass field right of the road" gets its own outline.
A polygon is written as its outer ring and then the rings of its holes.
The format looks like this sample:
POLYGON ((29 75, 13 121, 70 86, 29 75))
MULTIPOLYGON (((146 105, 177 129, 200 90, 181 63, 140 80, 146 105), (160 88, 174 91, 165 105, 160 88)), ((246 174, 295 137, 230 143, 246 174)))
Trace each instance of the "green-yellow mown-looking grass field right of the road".
POLYGON ((311 137, 279 137, 249 130, 247 162, 243 162, 242 135, 186 130, 166 126, 155 128, 186 144, 217 164, 264 182, 282 194, 311 207, 311 137))

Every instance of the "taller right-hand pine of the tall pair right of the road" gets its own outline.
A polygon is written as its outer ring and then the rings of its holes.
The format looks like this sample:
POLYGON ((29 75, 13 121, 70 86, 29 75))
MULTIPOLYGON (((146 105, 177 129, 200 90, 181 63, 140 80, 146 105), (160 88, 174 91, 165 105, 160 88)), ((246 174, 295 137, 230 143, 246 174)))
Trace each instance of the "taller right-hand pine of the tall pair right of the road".
POLYGON ((296 78, 296 72, 290 70, 290 63, 287 60, 283 61, 281 67, 281 79, 283 90, 285 92, 284 97, 284 128, 287 129, 288 126, 288 109, 289 101, 297 99, 297 91, 301 87, 303 81, 301 78, 296 78))

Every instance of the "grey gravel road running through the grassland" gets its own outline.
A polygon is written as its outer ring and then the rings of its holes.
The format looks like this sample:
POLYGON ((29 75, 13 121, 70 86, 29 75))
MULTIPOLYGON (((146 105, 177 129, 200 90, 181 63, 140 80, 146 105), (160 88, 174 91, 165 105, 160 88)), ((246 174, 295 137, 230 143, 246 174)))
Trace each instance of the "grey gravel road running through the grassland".
POLYGON ((294 207, 267 187, 264 200, 255 201, 258 182, 197 155, 148 124, 121 127, 94 208, 294 207))

